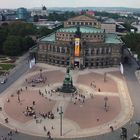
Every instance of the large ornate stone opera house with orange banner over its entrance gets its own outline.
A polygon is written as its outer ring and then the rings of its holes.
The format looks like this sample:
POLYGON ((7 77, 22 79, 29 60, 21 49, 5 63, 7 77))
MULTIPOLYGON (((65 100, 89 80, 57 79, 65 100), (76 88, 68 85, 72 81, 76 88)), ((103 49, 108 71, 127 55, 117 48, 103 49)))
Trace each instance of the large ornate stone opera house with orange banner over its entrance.
POLYGON ((116 34, 106 33, 100 25, 85 15, 65 21, 64 28, 39 39, 37 62, 79 69, 119 65, 123 42, 116 34))

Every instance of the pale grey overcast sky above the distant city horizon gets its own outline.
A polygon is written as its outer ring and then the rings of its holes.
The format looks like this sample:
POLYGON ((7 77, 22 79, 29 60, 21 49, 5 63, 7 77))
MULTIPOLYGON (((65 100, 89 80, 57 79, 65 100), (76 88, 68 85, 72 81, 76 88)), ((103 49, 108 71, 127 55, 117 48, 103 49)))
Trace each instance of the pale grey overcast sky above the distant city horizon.
POLYGON ((140 0, 0 0, 0 8, 18 7, 134 7, 140 8, 140 0))

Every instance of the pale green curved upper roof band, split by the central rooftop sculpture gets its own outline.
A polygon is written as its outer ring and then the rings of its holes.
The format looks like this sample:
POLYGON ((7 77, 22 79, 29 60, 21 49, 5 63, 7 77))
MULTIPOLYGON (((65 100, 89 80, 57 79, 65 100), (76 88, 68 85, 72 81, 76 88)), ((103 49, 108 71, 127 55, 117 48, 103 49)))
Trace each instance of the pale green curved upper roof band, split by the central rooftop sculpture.
MULTIPOLYGON (((103 29, 98 29, 94 27, 87 27, 87 26, 79 26, 80 32, 82 33, 103 33, 103 29)), ((77 27, 68 27, 68 28, 61 28, 57 30, 57 32, 69 32, 69 33, 75 33, 77 31, 77 27)))

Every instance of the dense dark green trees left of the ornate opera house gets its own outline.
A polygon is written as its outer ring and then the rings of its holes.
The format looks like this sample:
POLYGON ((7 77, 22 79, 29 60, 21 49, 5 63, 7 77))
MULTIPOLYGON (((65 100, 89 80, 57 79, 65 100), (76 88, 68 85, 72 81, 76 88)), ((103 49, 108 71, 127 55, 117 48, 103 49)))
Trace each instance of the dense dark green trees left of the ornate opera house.
POLYGON ((53 31, 45 27, 37 29, 33 24, 22 21, 4 23, 0 26, 0 54, 21 55, 35 44, 32 38, 42 37, 53 31))

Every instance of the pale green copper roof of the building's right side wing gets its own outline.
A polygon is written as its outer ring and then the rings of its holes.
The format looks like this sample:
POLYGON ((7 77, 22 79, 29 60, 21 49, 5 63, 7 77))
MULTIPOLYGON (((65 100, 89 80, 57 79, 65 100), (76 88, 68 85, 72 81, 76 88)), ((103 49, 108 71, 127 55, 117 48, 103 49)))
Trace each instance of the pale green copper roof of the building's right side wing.
POLYGON ((122 43, 122 40, 116 34, 106 34, 105 43, 119 44, 122 43))

